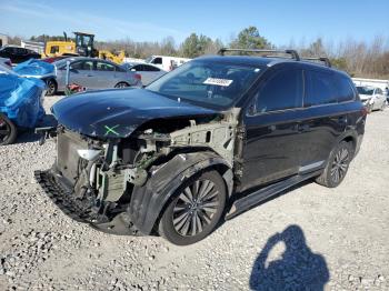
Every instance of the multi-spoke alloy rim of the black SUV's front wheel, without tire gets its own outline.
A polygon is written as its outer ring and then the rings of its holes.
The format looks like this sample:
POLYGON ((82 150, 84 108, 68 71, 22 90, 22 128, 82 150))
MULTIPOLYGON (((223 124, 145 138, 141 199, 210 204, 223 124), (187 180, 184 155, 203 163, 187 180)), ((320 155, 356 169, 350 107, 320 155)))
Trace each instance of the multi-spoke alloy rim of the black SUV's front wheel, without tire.
POLYGON ((183 237, 193 237, 209 225, 218 211, 219 191, 210 180, 186 187, 173 207, 173 227, 183 237))

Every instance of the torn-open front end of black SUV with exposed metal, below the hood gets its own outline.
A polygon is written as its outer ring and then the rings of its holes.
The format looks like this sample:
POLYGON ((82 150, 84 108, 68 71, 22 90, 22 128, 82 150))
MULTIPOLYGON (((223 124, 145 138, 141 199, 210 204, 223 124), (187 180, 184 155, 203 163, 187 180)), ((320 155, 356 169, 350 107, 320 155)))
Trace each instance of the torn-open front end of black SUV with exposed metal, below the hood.
POLYGON ((118 138, 59 126, 57 161, 36 178, 77 221, 116 234, 150 234, 163 204, 196 172, 219 167, 231 193, 238 116, 233 108, 149 120, 118 138))

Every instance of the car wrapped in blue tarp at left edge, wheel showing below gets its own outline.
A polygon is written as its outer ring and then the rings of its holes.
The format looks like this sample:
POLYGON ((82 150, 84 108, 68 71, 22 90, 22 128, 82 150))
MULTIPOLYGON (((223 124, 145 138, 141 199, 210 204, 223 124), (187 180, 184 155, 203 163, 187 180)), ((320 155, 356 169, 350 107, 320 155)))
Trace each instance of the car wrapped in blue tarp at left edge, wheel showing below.
POLYGON ((0 66, 0 146, 12 143, 18 129, 32 129, 44 116, 46 83, 0 66))

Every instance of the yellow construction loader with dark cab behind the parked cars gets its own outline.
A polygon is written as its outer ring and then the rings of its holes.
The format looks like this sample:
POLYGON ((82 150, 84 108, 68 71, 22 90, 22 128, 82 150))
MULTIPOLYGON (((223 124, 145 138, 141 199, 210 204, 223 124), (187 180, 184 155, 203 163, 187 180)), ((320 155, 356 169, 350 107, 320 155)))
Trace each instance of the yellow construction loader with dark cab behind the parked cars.
POLYGON ((63 32, 64 41, 48 41, 44 44, 44 56, 82 56, 82 57, 99 57, 100 59, 110 60, 116 63, 122 63, 126 57, 124 51, 114 54, 108 50, 97 50, 94 48, 94 34, 86 32, 73 32, 76 41, 68 40, 67 33, 63 32))

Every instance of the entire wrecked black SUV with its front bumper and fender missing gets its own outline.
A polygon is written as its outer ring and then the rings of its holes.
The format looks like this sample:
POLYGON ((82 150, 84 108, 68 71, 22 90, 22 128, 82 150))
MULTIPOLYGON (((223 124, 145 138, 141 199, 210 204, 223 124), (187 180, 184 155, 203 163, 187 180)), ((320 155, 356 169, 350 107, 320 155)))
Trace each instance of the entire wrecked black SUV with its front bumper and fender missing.
POLYGON ((57 102, 58 158, 36 172, 47 193, 97 229, 183 245, 301 181, 339 185, 367 114, 349 76, 296 51, 227 51, 57 102))

